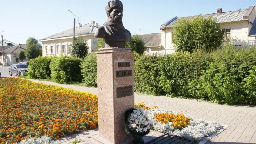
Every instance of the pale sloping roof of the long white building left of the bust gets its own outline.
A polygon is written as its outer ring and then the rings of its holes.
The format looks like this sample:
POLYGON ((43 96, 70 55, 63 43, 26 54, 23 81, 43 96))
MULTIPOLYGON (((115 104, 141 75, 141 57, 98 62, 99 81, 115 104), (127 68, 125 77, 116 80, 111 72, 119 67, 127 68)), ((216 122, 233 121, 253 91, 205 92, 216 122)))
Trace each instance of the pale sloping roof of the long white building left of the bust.
MULTIPOLYGON (((100 26, 98 26, 98 27, 100 27, 100 26)), ((74 28, 71 28, 71 29, 68 29, 66 31, 56 33, 56 34, 53 34, 51 36, 48 36, 46 38, 39 39, 39 40, 46 40, 46 39, 54 39, 54 38, 62 38, 62 37, 73 36, 73 34, 74 34, 73 29, 74 28)), ((94 26, 94 24, 84 25, 84 26, 81 26, 81 27, 75 27, 75 35, 84 35, 84 34, 95 33, 97 29, 98 28, 96 28, 96 26, 94 26)))

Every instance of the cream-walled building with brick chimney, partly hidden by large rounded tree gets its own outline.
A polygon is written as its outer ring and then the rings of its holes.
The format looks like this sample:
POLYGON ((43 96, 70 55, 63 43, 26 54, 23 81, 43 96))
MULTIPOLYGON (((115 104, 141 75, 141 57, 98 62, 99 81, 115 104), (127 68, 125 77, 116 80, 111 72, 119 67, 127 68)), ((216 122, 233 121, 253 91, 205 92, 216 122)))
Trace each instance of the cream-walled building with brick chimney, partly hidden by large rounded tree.
MULTIPOLYGON (((217 9, 217 13, 206 14, 204 17, 212 16, 216 18, 217 23, 223 25, 225 30, 225 40, 234 43, 236 46, 248 46, 255 43, 256 38, 256 12, 255 6, 249 6, 248 9, 222 12, 217 9)), ((151 49, 151 53, 171 54, 175 52, 172 43, 173 26, 178 20, 185 18, 193 19, 195 16, 180 17, 177 16, 161 25, 161 46, 151 49)))

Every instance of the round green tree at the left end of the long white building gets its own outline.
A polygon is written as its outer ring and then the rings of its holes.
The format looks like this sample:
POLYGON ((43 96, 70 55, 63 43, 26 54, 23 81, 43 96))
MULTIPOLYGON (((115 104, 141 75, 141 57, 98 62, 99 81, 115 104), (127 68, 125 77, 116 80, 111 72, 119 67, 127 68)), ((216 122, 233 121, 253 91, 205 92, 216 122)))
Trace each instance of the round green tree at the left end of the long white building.
POLYGON ((42 46, 35 43, 27 45, 25 50, 25 56, 28 60, 42 56, 42 46))

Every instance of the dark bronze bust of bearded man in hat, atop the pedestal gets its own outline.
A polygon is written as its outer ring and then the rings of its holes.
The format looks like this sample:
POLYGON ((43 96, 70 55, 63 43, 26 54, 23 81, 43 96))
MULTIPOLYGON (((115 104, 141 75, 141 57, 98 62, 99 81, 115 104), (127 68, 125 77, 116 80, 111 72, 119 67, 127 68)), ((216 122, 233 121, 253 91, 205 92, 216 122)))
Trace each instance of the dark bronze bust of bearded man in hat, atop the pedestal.
POLYGON ((105 40, 105 48, 125 48, 125 42, 131 39, 131 33, 123 26, 123 4, 119 0, 109 1, 106 6, 107 22, 98 28, 96 38, 105 40))

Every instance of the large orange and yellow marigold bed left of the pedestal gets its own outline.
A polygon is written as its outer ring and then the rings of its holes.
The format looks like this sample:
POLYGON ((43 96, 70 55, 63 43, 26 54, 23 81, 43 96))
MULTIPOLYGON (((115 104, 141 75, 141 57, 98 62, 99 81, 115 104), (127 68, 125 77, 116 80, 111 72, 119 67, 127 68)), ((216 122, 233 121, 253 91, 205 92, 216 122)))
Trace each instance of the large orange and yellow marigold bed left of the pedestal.
POLYGON ((98 127, 97 95, 20 78, 0 79, 0 144, 98 127))

